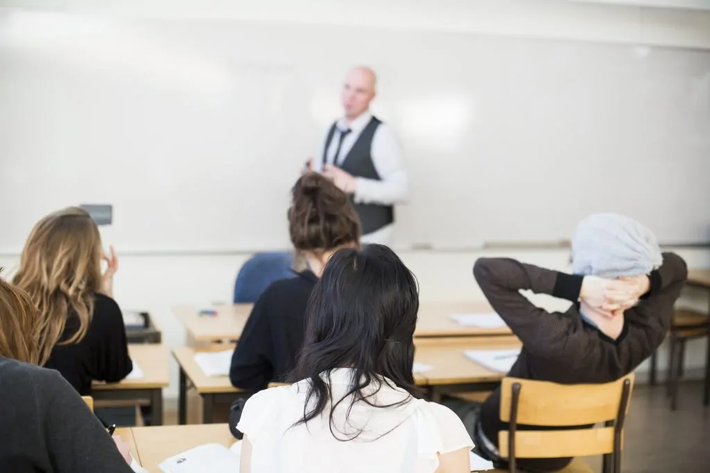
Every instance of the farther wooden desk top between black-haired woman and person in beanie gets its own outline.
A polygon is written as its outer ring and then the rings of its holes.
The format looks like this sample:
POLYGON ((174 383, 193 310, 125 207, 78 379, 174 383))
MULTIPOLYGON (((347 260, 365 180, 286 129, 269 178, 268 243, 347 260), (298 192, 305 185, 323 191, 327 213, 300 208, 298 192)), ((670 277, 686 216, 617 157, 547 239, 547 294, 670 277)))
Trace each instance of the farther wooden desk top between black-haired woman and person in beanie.
POLYGON ((468 335, 509 335, 510 328, 464 327, 452 321, 452 313, 491 313, 488 302, 422 302, 417 315, 415 337, 459 337, 468 335))

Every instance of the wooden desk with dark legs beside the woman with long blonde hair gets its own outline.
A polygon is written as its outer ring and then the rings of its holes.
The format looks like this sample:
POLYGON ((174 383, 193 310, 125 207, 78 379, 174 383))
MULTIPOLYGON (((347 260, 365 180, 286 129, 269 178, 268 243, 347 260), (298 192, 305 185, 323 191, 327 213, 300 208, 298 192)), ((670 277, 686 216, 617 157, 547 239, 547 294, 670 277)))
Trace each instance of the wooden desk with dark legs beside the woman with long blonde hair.
POLYGON ((170 384, 168 347, 161 344, 129 345, 131 359, 143 371, 141 379, 123 379, 117 383, 94 382, 94 401, 136 401, 149 406, 151 425, 163 423, 163 388, 170 384))

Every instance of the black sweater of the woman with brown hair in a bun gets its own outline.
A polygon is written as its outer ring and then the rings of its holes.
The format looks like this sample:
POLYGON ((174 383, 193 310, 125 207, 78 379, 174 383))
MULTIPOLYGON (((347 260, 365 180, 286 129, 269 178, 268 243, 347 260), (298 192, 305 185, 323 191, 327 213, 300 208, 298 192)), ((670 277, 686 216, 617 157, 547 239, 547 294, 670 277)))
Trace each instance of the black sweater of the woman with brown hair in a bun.
POLYGON ((231 357, 231 384, 256 391, 285 381, 303 345, 306 306, 317 280, 306 270, 263 291, 231 357))

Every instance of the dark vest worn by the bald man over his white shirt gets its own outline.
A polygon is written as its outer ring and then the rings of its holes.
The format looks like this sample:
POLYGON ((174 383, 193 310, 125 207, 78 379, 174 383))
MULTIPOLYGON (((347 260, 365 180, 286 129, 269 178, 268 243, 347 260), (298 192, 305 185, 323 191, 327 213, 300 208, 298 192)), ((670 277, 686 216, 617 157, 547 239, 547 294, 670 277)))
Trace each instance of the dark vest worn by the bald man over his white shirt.
MULTIPOLYGON (((375 130, 380 126, 381 121, 372 117, 367 126, 362 130, 351 150, 346 155, 342 164, 337 164, 338 157, 334 158, 334 165, 343 169, 348 174, 354 177, 364 177, 365 179, 375 179, 381 181, 380 174, 377 174, 377 169, 372 162, 372 138, 375 135, 375 130)), ((333 140, 336 130, 336 123, 330 127, 328 136, 325 139, 325 149, 323 151, 323 164, 327 162, 328 148, 333 140)), ((352 196, 350 197, 352 201, 352 196)), ((362 225, 362 234, 368 235, 384 226, 388 226, 395 221, 395 211, 393 206, 384 206, 378 204, 356 204, 353 201, 355 211, 360 217, 362 225)))

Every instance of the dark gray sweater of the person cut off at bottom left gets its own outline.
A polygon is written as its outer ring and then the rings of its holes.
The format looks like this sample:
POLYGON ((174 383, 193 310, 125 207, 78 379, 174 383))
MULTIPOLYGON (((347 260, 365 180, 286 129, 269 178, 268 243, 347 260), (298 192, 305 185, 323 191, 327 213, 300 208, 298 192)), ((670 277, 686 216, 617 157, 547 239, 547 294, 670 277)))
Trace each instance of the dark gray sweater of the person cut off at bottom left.
POLYGON ((0 472, 133 473, 58 372, 0 357, 0 472))

